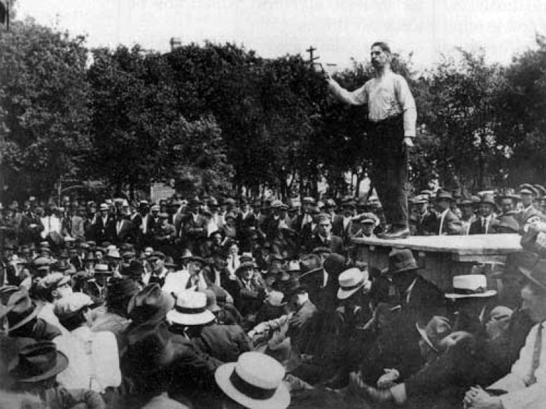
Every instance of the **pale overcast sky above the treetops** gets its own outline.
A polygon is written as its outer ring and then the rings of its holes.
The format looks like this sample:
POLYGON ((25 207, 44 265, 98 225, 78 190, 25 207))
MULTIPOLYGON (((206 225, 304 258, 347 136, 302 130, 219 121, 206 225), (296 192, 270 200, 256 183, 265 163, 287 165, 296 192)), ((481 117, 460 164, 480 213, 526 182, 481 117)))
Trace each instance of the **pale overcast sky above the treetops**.
POLYGON ((87 34, 91 47, 139 43, 169 50, 208 39, 244 45, 262 57, 318 49, 324 63, 367 59, 376 40, 414 53, 418 68, 454 47, 483 47, 508 63, 546 34, 545 0, 18 0, 18 18, 87 34))

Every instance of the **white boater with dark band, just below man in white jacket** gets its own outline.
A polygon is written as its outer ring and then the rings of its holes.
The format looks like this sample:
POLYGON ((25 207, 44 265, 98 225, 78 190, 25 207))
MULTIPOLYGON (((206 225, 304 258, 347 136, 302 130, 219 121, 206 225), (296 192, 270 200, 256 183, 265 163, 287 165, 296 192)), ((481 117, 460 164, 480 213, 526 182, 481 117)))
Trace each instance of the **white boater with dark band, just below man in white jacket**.
POLYGON ((167 313, 167 321, 181 325, 208 324, 214 318, 214 314, 207 310, 207 296, 189 289, 176 295, 174 309, 167 313))

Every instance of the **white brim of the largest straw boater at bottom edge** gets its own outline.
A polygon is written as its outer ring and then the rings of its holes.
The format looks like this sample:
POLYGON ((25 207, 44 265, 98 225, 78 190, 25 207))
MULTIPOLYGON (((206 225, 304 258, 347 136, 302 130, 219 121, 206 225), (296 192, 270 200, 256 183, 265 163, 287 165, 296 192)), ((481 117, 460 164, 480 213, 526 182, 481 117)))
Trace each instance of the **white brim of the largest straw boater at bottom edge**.
POLYGON ((214 373, 214 379, 216 379, 218 387, 231 399, 250 409, 284 409, 290 405, 290 392, 288 392, 283 382, 280 383, 274 395, 269 399, 252 399, 239 392, 230 382, 230 376, 236 365, 237 362, 223 364, 214 373))

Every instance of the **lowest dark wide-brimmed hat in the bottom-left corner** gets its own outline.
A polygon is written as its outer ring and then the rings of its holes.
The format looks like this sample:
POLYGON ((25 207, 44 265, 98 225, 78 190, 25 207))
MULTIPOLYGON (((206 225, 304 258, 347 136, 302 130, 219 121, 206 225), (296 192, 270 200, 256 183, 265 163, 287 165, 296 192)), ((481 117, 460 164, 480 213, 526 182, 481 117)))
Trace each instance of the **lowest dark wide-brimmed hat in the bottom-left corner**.
POLYGON ((68 358, 57 351, 55 343, 41 341, 21 348, 10 364, 10 374, 18 382, 39 382, 61 373, 68 364, 68 358))

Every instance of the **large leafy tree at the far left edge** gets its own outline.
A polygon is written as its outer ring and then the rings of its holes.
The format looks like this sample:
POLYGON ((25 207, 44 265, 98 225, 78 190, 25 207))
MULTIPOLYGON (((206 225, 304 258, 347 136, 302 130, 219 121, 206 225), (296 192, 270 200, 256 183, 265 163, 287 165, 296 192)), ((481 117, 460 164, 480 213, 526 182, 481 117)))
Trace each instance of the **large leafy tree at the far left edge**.
POLYGON ((0 38, 0 173, 8 196, 48 194, 89 148, 85 38, 15 22, 0 38))

